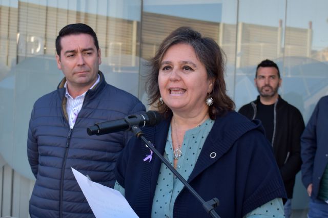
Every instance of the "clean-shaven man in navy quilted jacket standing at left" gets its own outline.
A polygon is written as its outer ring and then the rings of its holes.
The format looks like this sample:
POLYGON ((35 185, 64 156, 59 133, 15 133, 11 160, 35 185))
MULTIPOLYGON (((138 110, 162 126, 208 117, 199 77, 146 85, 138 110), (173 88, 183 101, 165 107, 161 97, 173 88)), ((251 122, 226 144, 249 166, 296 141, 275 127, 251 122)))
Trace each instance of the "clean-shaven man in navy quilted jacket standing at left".
POLYGON ((117 157, 132 134, 88 136, 87 127, 140 114, 145 106, 105 81, 97 36, 89 26, 61 29, 56 52, 65 78, 35 102, 29 124, 28 159, 36 178, 29 212, 31 217, 94 217, 71 167, 113 187, 117 157))

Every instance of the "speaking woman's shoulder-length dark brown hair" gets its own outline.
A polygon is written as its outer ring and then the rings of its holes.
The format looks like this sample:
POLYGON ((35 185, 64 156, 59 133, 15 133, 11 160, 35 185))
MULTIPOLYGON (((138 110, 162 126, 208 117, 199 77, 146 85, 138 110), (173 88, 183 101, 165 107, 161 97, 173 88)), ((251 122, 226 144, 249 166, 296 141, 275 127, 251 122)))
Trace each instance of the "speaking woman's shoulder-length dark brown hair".
MULTIPOLYGON (((224 81, 226 55, 212 38, 202 37, 199 32, 190 27, 180 27, 174 30, 162 41, 155 56, 149 60, 148 65, 151 67, 151 71, 146 81, 149 103, 154 106, 158 102, 157 107, 160 113, 164 113, 167 116, 172 113, 168 106, 158 101, 160 98, 158 73, 166 51, 171 46, 180 43, 193 47, 197 58, 206 68, 208 79, 213 79, 214 81, 211 93, 214 103, 209 106, 210 118, 214 120, 217 116, 222 116, 228 111, 234 110, 235 104, 227 95, 226 82, 224 81)), ((205 99, 201 100, 205 103, 205 99)))

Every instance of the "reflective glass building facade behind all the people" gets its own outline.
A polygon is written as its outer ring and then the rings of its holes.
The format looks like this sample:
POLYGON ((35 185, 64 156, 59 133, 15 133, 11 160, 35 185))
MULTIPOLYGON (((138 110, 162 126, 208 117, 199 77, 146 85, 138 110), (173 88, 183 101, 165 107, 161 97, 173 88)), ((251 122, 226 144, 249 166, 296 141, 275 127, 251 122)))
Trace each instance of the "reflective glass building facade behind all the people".
MULTIPOLYGON (((280 68, 279 94, 307 122, 328 94, 326 9, 325 0, 0 0, 0 217, 29 217, 28 121, 34 101, 63 77, 55 38, 65 25, 91 26, 106 80, 145 105, 145 61, 171 31, 193 27, 226 53, 237 110, 257 96, 255 69, 268 58, 280 68)), ((307 204, 299 173, 292 207, 306 210, 307 204)))

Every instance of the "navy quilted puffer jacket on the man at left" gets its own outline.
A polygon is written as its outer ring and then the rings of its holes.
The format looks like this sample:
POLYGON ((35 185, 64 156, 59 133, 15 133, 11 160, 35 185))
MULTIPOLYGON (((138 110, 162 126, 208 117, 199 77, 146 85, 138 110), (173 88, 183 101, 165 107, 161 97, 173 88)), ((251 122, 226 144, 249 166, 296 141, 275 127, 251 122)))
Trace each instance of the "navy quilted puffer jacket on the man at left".
POLYGON ((145 111, 131 94, 100 81, 85 96, 73 129, 66 113, 64 81, 39 98, 33 107, 28 132, 28 159, 36 178, 30 199, 31 217, 94 217, 71 167, 92 181, 113 187, 120 151, 128 132, 88 136, 87 127, 145 111))

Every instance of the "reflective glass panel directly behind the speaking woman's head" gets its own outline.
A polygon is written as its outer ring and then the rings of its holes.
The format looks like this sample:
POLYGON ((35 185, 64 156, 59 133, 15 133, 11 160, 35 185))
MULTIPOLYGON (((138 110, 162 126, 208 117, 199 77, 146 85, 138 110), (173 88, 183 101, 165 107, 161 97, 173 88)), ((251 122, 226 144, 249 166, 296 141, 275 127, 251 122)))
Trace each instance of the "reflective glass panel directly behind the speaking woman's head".
MULTIPOLYGON (((233 87, 237 12, 235 1, 146 0, 143 9, 142 61, 153 57, 161 41, 173 30, 181 26, 189 26, 203 36, 213 38, 226 52, 227 83, 229 88, 233 87)), ((141 66, 141 74, 147 71, 145 66, 141 66)), ((139 96, 142 96, 142 102, 147 105, 145 84, 141 82, 144 81, 140 81, 139 96)), ((232 96, 233 89, 229 91, 232 96)))

